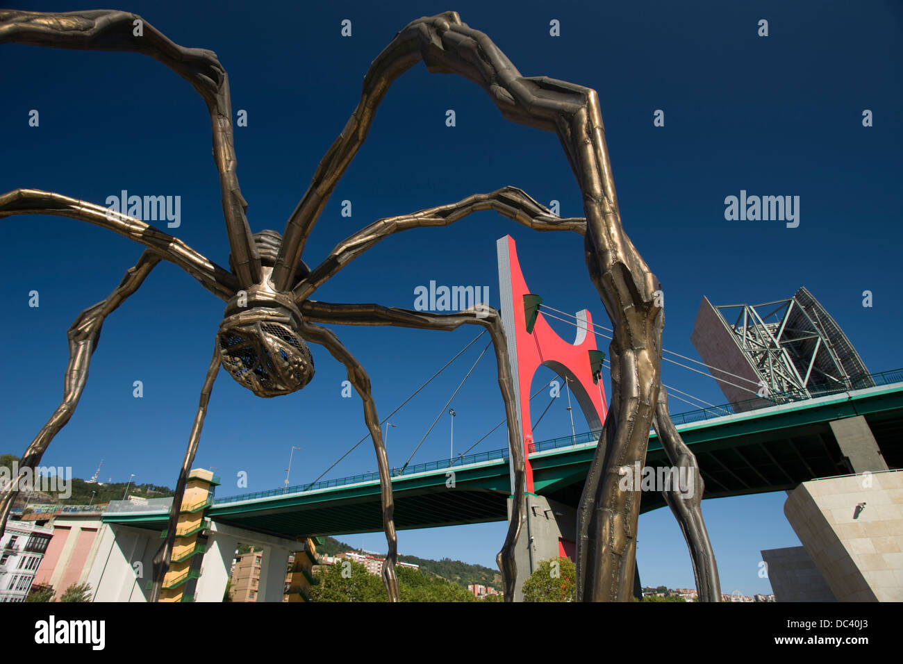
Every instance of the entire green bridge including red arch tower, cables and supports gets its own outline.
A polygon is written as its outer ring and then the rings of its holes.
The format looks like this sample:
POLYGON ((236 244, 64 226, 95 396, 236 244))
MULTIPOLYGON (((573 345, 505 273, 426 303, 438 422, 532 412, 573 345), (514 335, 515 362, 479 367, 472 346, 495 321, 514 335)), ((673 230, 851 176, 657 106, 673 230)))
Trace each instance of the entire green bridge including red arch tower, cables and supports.
MULTIPOLYGON (((544 304, 541 297, 532 294, 521 272, 512 238, 499 238, 497 250, 501 321, 508 340, 507 360, 512 372, 513 401, 527 462, 522 522, 525 536, 518 540, 515 550, 518 576, 514 599, 517 601, 521 583, 535 570, 537 561, 560 555, 573 557, 577 539, 576 508, 607 414, 606 400, 599 382, 601 370, 605 367, 605 356, 596 347, 596 337, 610 338, 605 332, 611 331, 592 323, 591 314, 586 309, 576 314, 566 313, 544 304), (572 325, 575 340, 564 341, 546 318, 572 325), (568 406, 571 406, 573 394, 591 431, 535 442, 532 432, 534 418, 530 411, 533 397, 529 392, 535 371, 540 366, 553 369, 564 380, 568 406)), ((801 308, 798 315, 802 316, 804 309, 801 308)), ((793 311, 796 313, 796 310, 793 311)), ((819 321, 830 318, 824 311, 822 313, 819 321)), ((770 320, 770 314, 765 317, 770 320)), ((759 345, 753 344, 755 349, 749 350, 752 360, 744 355, 749 367, 734 356, 714 357, 710 359, 711 363, 697 362, 710 369, 712 378, 722 388, 724 385, 736 388, 737 391, 731 393, 729 399, 734 398, 733 394, 739 397, 756 395, 738 403, 672 415, 677 430, 699 464, 705 483, 703 498, 796 490, 805 482, 819 478, 903 466, 903 445, 900 444, 903 435, 903 369, 872 375, 865 373, 861 363, 857 365, 858 371, 843 369, 837 364, 838 361, 842 364, 844 358, 849 359, 848 355, 858 358, 852 347, 842 353, 842 357, 835 358, 836 353, 831 354, 833 364, 828 366, 825 364, 827 360, 818 355, 818 349, 823 337, 829 346, 835 341, 844 341, 839 328, 834 331, 834 341, 820 328, 816 328, 818 334, 803 333, 803 330, 800 332, 802 336, 794 336, 788 341, 781 337, 781 332, 787 330, 786 323, 763 323, 768 332, 766 336, 769 339, 773 337, 768 325, 777 325, 777 339, 783 340, 785 346, 791 342, 796 346, 777 349, 769 346, 763 351, 759 348, 761 339, 757 337, 753 341, 759 345), (805 343, 810 343, 815 337, 815 346, 812 349, 805 347, 805 343), (805 379, 791 386, 796 389, 795 392, 780 391, 787 389, 784 383, 776 389, 778 384, 775 381, 757 382, 760 377, 754 369, 758 367, 758 354, 766 351, 772 355, 777 353, 776 357, 784 360, 792 351, 797 360, 805 360, 805 379), (823 360, 824 367, 819 365, 817 369, 824 379, 811 381, 809 378, 816 368, 815 360, 819 359, 823 360), (718 364, 731 371, 716 366, 718 364), (732 379, 763 386, 764 394, 735 385, 732 379)), ((721 336, 728 335, 730 343, 725 342, 721 346, 732 349, 732 344, 739 343, 734 338, 737 330, 727 327, 726 323, 719 322, 714 329, 721 336)), ((796 327, 793 329, 796 330, 796 327)), ((742 330, 744 334, 748 332, 745 324, 742 330)), ((711 332, 705 338, 714 338, 718 334, 711 332)), ((739 348, 746 348, 743 343, 739 348)), ((714 344, 713 347, 721 346, 714 344)), ((708 348, 703 344, 703 349, 708 348)), ((442 369, 448 367, 461 352, 442 369)), ((696 361, 682 355, 679 357, 696 361)), ((663 360, 703 373, 673 359, 663 360)), ((411 397, 438 376, 442 369, 417 388, 411 397)), ((470 371, 467 376, 470 376, 470 371)), ((799 368, 788 365, 787 371, 796 375, 799 368)), ((464 381, 461 381, 442 411, 451 404, 463 384, 464 381)), ((695 398, 664 384, 663 388, 680 400, 684 398, 679 394, 695 398)), ((411 397, 386 417, 394 415, 411 397)), ((687 403, 693 405, 693 402, 687 403)), ((535 424, 541 419, 542 415, 535 424)), ((366 438, 358 444, 364 440, 366 438)), ((436 528, 507 520, 514 503, 510 463, 506 447, 414 466, 405 463, 400 471, 393 469, 391 482, 396 528, 436 528)), ((646 466, 659 472, 672 470, 672 464, 655 432, 649 438, 646 466)), ((295 600, 299 596, 306 598, 305 590, 311 583, 310 566, 316 560, 311 538, 377 532, 384 528, 379 478, 374 472, 218 499, 212 497, 212 488, 219 484, 212 473, 195 470, 191 480, 192 494, 189 497, 186 492, 180 525, 176 529, 176 538, 180 542, 173 549, 173 561, 178 568, 173 570, 171 566, 166 577, 168 581, 164 581, 163 585, 164 590, 172 591, 167 601, 219 601, 238 542, 264 547, 263 560, 267 569, 265 573, 263 569, 261 571, 261 588, 265 588, 265 601, 282 600, 284 570, 289 553, 306 551, 306 558, 294 557, 293 590, 289 592, 295 600), (189 507, 186 509, 185 505, 189 507), (203 557, 199 561, 197 556, 201 555, 203 557), (205 570, 204 575, 200 575, 201 569, 205 570), (197 585, 192 583, 195 579, 198 580, 197 585)), ((140 594, 135 594, 134 588, 126 590, 131 580, 131 569, 138 559, 145 566, 150 563, 149 556, 159 547, 163 529, 167 527, 171 502, 172 499, 150 500, 144 506, 122 502, 111 504, 110 510, 103 516, 109 528, 102 547, 110 555, 115 553, 113 558, 117 563, 109 574, 98 571, 96 579, 98 584, 102 584, 98 585, 98 597, 111 601, 127 596, 128 601, 135 601, 135 598, 140 601, 140 594)), ((656 510, 664 506, 665 501, 660 492, 646 491, 640 505, 642 511, 656 510)))

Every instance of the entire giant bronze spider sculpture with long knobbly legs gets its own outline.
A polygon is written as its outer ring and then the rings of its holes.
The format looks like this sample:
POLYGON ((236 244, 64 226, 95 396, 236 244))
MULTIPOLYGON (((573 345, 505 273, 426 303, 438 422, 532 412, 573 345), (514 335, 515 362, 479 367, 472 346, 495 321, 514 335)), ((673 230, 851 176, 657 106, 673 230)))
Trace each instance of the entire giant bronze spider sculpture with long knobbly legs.
MULTIPOLYGON (((53 436, 69 421, 85 387, 91 354, 97 347, 107 315, 135 293, 159 261, 168 260, 182 267, 226 302, 172 501, 168 537, 154 557, 152 601, 159 597, 163 575, 170 563, 182 493, 219 367, 258 397, 290 394, 313 378, 308 342, 323 346, 345 365, 349 381, 363 400, 364 418, 377 454, 388 543, 383 577, 389 600, 398 601, 392 485, 368 375, 338 337, 317 323, 397 325, 428 330, 453 330, 462 324, 478 324, 489 330, 495 346, 498 384, 505 402, 508 444, 515 468, 515 504, 505 543, 497 556, 504 577, 505 599, 513 601, 517 571, 514 546, 524 511, 524 459, 507 364, 507 344, 498 312, 485 307, 433 314, 379 304, 327 304, 310 299, 319 286, 381 239, 406 229, 445 226, 477 210, 496 210, 535 230, 571 230, 582 234, 591 279, 614 328, 610 345, 613 397, 578 510, 578 600, 628 601, 633 592, 639 500, 633 491, 619 490, 619 472, 635 462, 644 462, 648 432, 654 425, 671 462, 694 472, 691 486, 697 491, 684 495, 675 489, 666 493, 666 500, 684 530, 701 598, 719 601, 717 567, 700 510, 702 478, 693 454, 671 423, 666 392, 660 388, 664 327, 663 310, 656 304, 660 285, 621 228, 594 90, 554 79, 521 76, 489 37, 461 23, 457 13, 417 19, 397 33, 371 64, 358 108, 323 157, 283 235, 274 230, 252 235, 245 216, 247 203, 236 174, 228 76, 215 53, 179 46, 140 16, 109 10, 65 14, 0 10, 0 43, 5 42, 141 52, 188 80, 209 108, 213 156, 219 170, 230 248, 228 271, 178 238, 99 205, 30 189, 0 195, 0 218, 57 214, 97 224, 146 247, 135 267, 126 272, 122 283, 107 299, 82 312, 70 327, 70 361, 64 397, 25 451, 23 468, 40 463, 53 436), (138 22, 143 27, 141 31, 135 30, 138 22), (581 187, 586 217, 559 218, 525 192, 506 187, 414 214, 377 220, 342 241, 319 266, 310 270, 302 254, 314 223, 366 138, 377 105, 392 81, 421 60, 430 71, 457 73, 476 82, 489 93, 507 119, 556 132, 581 187)), ((17 486, 14 482, 2 494, 0 526, 5 526, 17 486)))

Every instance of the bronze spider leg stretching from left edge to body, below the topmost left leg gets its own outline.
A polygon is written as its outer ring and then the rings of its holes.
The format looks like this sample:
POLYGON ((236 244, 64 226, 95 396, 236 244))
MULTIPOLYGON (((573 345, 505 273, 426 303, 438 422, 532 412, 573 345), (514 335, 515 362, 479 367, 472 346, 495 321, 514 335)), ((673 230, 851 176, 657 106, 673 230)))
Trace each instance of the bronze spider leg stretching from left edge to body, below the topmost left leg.
POLYGON ((186 245, 181 239, 173 238, 162 230, 148 226, 144 221, 100 205, 37 189, 15 189, 0 194, 0 219, 17 214, 53 214, 88 221, 151 248, 156 256, 182 267, 197 279, 200 285, 222 300, 228 301, 238 289, 234 275, 186 245))

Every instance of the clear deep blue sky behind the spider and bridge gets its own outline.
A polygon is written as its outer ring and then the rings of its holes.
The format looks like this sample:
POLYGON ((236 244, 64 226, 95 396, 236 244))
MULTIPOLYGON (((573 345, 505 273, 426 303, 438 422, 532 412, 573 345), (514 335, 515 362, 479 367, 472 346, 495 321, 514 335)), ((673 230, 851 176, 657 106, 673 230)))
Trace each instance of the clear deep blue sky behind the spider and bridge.
MULTIPOLYGON (((68 11, 61 2, 20 8, 68 11)), ((28 6, 31 5, 31 6, 28 6)), ((896 2, 756 5, 669 2, 554 4, 400 2, 185 6, 121 5, 186 46, 209 48, 229 72, 238 177, 256 230, 282 231, 312 173, 358 102, 372 61, 405 23, 448 9, 489 34, 525 75, 547 75, 599 90, 625 228, 666 293, 666 347, 698 357, 690 343, 703 295, 715 304, 765 302, 807 286, 842 325, 872 371, 898 368, 900 326, 899 154, 903 93, 903 10, 896 2), (340 36, 340 22, 352 36, 340 36), (757 36, 759 19, 769 36, 757 36), (549 35, 549 22, 561 36, 549 35), (874 126, 861 125, 863 109, 874 126), (656 109, 666 125, 653 126, 656 109), (800 196, 800 225, 727 221, 724 198, 745 189, 800 196), (874 306, 861 305, 870 290, 874 306)), ((160 63, 135 54, 0 47, 4 159, 0 190, 33 187, 103 204, 123 189, 180 195, 174 232, 222 266, 228 243, 219 180, 210 157, 209 117, 191 87, 160 63), (28 126, 31 109, 39 127, 28 126)), ((309 242, 316 264, 341 238, 372 220, 516 185, 537 200, 582 215, 580 192, 555 136, 507 123, 473 84, 430 75, 418 65, 398 80, 368 142, 340 182, 309 242), (445 126, 454 109, 457 126, 445 126), (352 216, 340 216, 340 201, 352 216)), ((104 298, 141 253, 134 243, 72 220, 25 216, 4 221, 7 388, 0 407, 0 453, 22 454, 57 406, 67 361, 66 329, 104 298), (28 307, 37 290, 40 308, 28 307)), ((163 228, 165 229, 165 228, 163 228)), ((498 305, 495 241, 517 239, 532 289, 565 311, 586 306, 607 323, 573 233, 535 234, 483 212, 450 229, 389 238, 318 292, 335 302, 411 307, 414 287, 489 285, 498 305)), ((191 430, 223 304, 169 264, 108 321, 88 388, 44 463, 89 477, 172 485, 191 430), (144 398, 132 396, 134 380, 144 398)), ((555 322, 553 322, 555 323, 555 322)), ((559 328, 564 335, 573 328, 559 328)), ((474 336, 391 328, 338 329, 367 367, 380 413, 388 413, 474 336)), ((603 348, 607 347, 607 341, 603 348)), ((393 421, 390 464, 414 450, 482 342, 393 421)), ((341 398, 340 365, 314 348, 316 377, 302 392, 259 399, 225 373, 210 402, 197 464, 223 477, 220 495, 279 486, 292 444, 293 483, 312 480, 365 434, 358 398, 341 398), (264 431, 264 434, 260 432, 264 431)), ((712 379, 673 365, 666 383, 712 403, 712 379)), ((537 374, 534 389, 550 379, 537 374)), ((607 381, 608 379, 606 379, 607 381)), ((606 383, 608 388, 608 382, 606 383)), ((539 399, 537 399, 539 401, 539 399)), ((502 417, 491 355, 453 406, 455 447, 502 417)), ((570 430, 556 404, 538 437, 570 430)), ((545 403, 542 407, 545 407, 545 403)), ((673 410, 689 409, 673 400, 673 410)), ((585 428, 585 422, 577 424, 585 428)), ((499 429, 477 450, 506 445, 499 429)), ((444 417, 414 463, 448 454, 444 417)), ((330 476, 375 470, 362 444, 330 476)), ((725 592, 769 592, 759 550, 798 545, 783 493, 708 500, 704 515, 725 592)), ((402 553, 450 556, 494 566, 502 523, 402 531, 402 553)), ((344 538, 377 551, 380 534, 344 538)), ((667 510, 640 519, 644 584, 692 586, 683 538, 667 510)))

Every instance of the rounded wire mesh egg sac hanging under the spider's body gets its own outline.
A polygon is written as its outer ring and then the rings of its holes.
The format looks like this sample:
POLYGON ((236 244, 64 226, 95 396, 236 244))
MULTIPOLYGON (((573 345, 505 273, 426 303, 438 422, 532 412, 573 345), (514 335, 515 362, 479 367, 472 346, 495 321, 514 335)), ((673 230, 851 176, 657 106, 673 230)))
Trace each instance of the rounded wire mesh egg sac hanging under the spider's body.
POLYGON ((313 378, 313 358, 292 328, 273 321, 231 325, 219 331, 220 362, 258 397, 291 394, 313 378))

